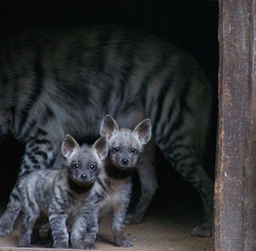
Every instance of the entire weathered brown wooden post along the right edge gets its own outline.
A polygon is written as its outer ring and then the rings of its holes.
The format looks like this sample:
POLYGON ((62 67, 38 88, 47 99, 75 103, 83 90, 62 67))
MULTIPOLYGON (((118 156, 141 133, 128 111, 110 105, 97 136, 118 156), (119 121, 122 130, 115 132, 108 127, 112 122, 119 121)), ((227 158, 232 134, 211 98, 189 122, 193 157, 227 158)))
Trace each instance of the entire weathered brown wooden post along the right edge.
POLYGON ((219 1, 215 251, 256 250, 255 0, 219 1))

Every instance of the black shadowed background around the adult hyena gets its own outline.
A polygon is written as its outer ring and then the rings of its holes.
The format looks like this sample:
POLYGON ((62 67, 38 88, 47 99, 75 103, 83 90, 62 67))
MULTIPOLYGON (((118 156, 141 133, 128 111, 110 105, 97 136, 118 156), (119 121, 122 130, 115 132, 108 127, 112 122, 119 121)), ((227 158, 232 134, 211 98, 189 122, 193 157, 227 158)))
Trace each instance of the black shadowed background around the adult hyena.
MULTIPOLYGON (((212 83, 214 106, 205 152, 205 169, 214 178, 217 128, 218 1, 168 0, 1 0, 0 39, 29 27, 78 27, 115 23, 165 38, 185 49, 201 62, 212 83)), ((1 53, 1 49, 0 49, 1 53)), ((1 73, 0 73, 1 74, 1 73)), ((24 146, 11 136, 0 145, 0 206, 6 206, 17 179, 24 146)), ((164 207, 186 213, 201 213, 199 195, 171 169, 157 150, 160 185, 151 210, 164 207)), ((138 186, 134 186, 139 190, 138 186)))

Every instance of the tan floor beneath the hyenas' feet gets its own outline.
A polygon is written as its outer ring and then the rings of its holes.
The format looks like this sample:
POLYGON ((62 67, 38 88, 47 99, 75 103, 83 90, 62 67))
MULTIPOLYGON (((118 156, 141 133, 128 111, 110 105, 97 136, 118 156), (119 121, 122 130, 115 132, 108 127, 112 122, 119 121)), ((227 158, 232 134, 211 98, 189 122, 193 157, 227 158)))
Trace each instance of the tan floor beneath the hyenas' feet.
MULTIPOLYGON (((97 242, 98 251, 212 251, 212 238, 192 237, 191 230, 199 219, 189 215, 168 215, 150 211, 143 222, 138 225, 127 225, 125 236, 132 240, 133 247, 122 248, 113 245, 110 222, 100 224, 99 233, 104 241, 97 242), (163 216, 164 215, 164 216, 163 216)), ((45 230, 41 231, 44 237, 45 230)), ((19 220, 15 225, 13 235, 0 237, 0 250, 49 250, 44 247, 17 248, 19 235, 19 220)), ((68 249, 65 249, 68 251, 68 249)))

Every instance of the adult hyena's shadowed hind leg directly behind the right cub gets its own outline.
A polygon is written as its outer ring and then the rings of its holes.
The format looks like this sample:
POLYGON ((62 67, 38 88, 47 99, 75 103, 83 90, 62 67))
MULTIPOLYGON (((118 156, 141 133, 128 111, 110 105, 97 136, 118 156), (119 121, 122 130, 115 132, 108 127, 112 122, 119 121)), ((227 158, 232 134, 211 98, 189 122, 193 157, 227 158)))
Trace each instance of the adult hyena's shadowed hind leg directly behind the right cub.
POLYGON ((158 189, 155 174, 155 139, 151 139, 145 145, 145 149, 136 164, 136 169, 140 177, 141 196, 133 212, 126 216, 125 224, 139 224, 142 221, 158 189))

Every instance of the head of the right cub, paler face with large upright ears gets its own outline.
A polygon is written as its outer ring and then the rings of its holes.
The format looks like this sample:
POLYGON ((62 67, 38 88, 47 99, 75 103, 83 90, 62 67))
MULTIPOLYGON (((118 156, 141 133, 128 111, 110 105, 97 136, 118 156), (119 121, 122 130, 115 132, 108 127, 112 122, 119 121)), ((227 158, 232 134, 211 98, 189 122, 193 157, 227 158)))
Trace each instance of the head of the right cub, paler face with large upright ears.
POLYGON ((119 129, 116 121, 106 115, 101 122, 100 135, 107 137, 111 162, 120 169, 130 169, 136 165, 144 145, 151 139, 150 120, 143 120, 132 131, 119 129))

